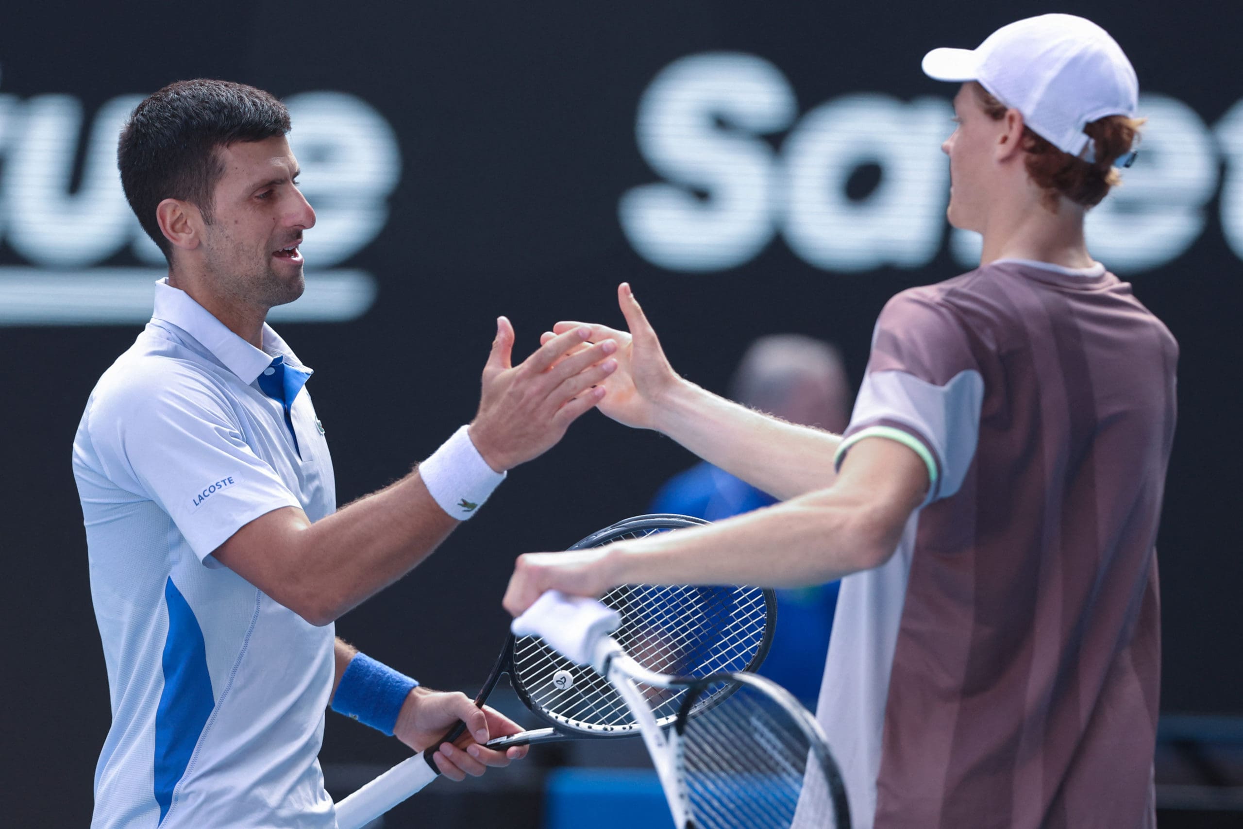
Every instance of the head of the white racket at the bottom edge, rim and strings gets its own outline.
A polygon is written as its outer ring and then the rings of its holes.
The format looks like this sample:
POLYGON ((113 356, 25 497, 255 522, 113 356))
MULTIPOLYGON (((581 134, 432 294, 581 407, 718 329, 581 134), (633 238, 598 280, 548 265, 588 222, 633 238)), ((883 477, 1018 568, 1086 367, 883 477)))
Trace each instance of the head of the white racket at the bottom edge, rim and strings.
POLYGON ((845 784, 824 731, 789 691, 753 674, 700 680, 682 698, 666 792, 696 829, 850 829, 845 784), (721 686, 733 686, 721 694, 721 686), (700 706, 697 700, 713 700, 700 706), (830 822, 832 818, 832 822, 830 822))

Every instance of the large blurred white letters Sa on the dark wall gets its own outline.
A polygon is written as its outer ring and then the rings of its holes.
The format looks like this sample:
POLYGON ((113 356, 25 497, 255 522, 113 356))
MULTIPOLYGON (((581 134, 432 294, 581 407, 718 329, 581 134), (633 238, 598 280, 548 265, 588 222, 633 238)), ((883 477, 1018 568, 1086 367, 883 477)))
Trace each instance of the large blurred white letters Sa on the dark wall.
POLYGON ((931 261, 943 230, 948 169, 940 145, 951 132, 950 104, 846 96, 809 112, 778 159, 758 135, 788 129, 797 114, 789 82, 753 55, 692 55, 660 72, 640 101, 636 137, 648 164, 672 184, 622 198, 634 249, 670 270, 718 271, 753 259, 781 222, 794 252, 817 267, 931 261), (881 181, 851 200, 846 180, 870 163, 881 181))

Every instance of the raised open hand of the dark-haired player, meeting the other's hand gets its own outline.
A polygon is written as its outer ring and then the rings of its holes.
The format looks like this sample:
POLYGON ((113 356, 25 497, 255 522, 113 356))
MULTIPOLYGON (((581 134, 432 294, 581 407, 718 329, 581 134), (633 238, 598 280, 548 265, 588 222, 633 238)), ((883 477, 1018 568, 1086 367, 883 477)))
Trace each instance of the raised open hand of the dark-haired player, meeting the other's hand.
POLYGON ((592 337, 588 326, 568 326, 512 365, 513 327, 505 317, 496 321, 479 413, 469 433, 488 466, 503 472, 543 455, 571 423, 604 398, 602 383, 618 367, 609 359, 618 343, 598 337, 588 344, 592 337))

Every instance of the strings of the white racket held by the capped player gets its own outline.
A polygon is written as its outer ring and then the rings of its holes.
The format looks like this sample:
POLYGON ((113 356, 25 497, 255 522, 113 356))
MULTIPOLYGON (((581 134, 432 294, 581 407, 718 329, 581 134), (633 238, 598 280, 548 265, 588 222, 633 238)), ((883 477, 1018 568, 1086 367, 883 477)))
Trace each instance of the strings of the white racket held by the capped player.
POLYGON ((689 720, 681 740, 696 827, 832 825, 819 756, 794 717, 767 694, 740 687, 689 720))

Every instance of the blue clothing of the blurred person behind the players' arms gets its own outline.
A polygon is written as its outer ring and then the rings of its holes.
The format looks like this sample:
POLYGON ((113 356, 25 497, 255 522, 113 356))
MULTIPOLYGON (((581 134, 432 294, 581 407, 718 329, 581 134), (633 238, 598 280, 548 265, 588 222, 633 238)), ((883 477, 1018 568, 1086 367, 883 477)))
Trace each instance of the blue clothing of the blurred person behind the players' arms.
MULTIPOLYGON (((675 475, 656 493, 653 512, 676 512, 720 521, 776 503, 746 481, 704 462, 675 475)), ((763 551, 757 551, 763 554, 763 551)), ((777 590, 777 630, 759 674, 815 707, 829 650, 838 583, 777 590)))

